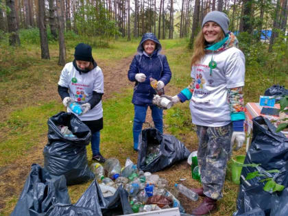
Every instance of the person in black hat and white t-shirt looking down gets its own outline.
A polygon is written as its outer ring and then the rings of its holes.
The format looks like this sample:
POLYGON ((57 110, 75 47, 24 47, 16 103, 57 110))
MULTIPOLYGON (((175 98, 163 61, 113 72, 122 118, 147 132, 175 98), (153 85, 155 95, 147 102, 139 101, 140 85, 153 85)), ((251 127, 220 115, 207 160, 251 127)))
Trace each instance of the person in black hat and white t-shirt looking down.
POLYGON ((92 132, 92 160, 104 163, 100 154, 100 130, 103 128, 102 95, 104 94, 104 77, 101 69, 92 56, 90 45, 80 43, 75 47, 75 60, 62 69, 58 82, 58 93, 67 106, 68 112, 73 112, 68 104, 76 101, 81 104, 82 115, 78 116, 92 132))

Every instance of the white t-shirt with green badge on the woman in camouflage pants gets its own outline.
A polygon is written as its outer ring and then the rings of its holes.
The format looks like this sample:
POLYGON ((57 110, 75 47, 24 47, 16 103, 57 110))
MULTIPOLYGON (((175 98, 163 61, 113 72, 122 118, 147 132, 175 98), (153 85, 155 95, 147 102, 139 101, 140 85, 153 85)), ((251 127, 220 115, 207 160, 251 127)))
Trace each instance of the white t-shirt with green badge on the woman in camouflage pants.
POLYGON ((213 53, 217 67, 210 75, 211 57, 212 53, 206 54, 192 67, 195 88, 189 107, 195 125, 221 127, 231 122, 228 88, 244 86, 245 56, 236 47, 213 53))

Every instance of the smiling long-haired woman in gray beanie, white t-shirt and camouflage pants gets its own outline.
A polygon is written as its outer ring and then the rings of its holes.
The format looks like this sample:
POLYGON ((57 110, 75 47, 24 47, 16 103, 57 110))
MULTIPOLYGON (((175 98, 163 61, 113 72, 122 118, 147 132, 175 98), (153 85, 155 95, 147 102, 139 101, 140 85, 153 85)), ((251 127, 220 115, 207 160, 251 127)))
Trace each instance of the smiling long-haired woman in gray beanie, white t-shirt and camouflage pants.
POLYGON ((204 200, 192 215, 216 210, 216 201, 223 197, 232 145, 239 149, 245 140, 245 57, 237 48, 235 35, 228 32, 228 25, 228 16, 223 12, 206 14, 194 44, 192 82, 178 95, 166 96, 173 104, 190 100, 192 123, 197 125, 197 159, 203 187, 192 190, 204 200))

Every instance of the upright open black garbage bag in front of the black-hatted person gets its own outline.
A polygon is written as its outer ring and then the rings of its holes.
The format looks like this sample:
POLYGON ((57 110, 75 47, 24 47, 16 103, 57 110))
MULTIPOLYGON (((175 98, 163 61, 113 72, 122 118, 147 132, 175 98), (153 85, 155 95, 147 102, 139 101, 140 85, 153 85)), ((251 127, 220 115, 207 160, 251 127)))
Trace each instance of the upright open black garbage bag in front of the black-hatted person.
POLYGON ((48 143, 44 166, 53 176, 64 175, 67 184, 80 184, 94 178, 88 168, 86 145, 91 141, 90 129, 73 113, 59 112, 48 120, 48 143), (75 137, 64 136, 59 125, 68 126, 75 137))

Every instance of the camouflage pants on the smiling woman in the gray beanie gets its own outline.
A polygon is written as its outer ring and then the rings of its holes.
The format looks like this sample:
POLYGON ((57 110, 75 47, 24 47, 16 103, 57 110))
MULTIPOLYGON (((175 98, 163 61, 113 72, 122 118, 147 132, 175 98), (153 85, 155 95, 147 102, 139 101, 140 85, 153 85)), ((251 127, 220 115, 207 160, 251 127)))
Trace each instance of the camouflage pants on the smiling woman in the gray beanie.
POLYGON ((197 125, 197 159, 204 194, 212 199, 223 197, 226 165, 232 152, 232 123, 222 127, 197 125))

